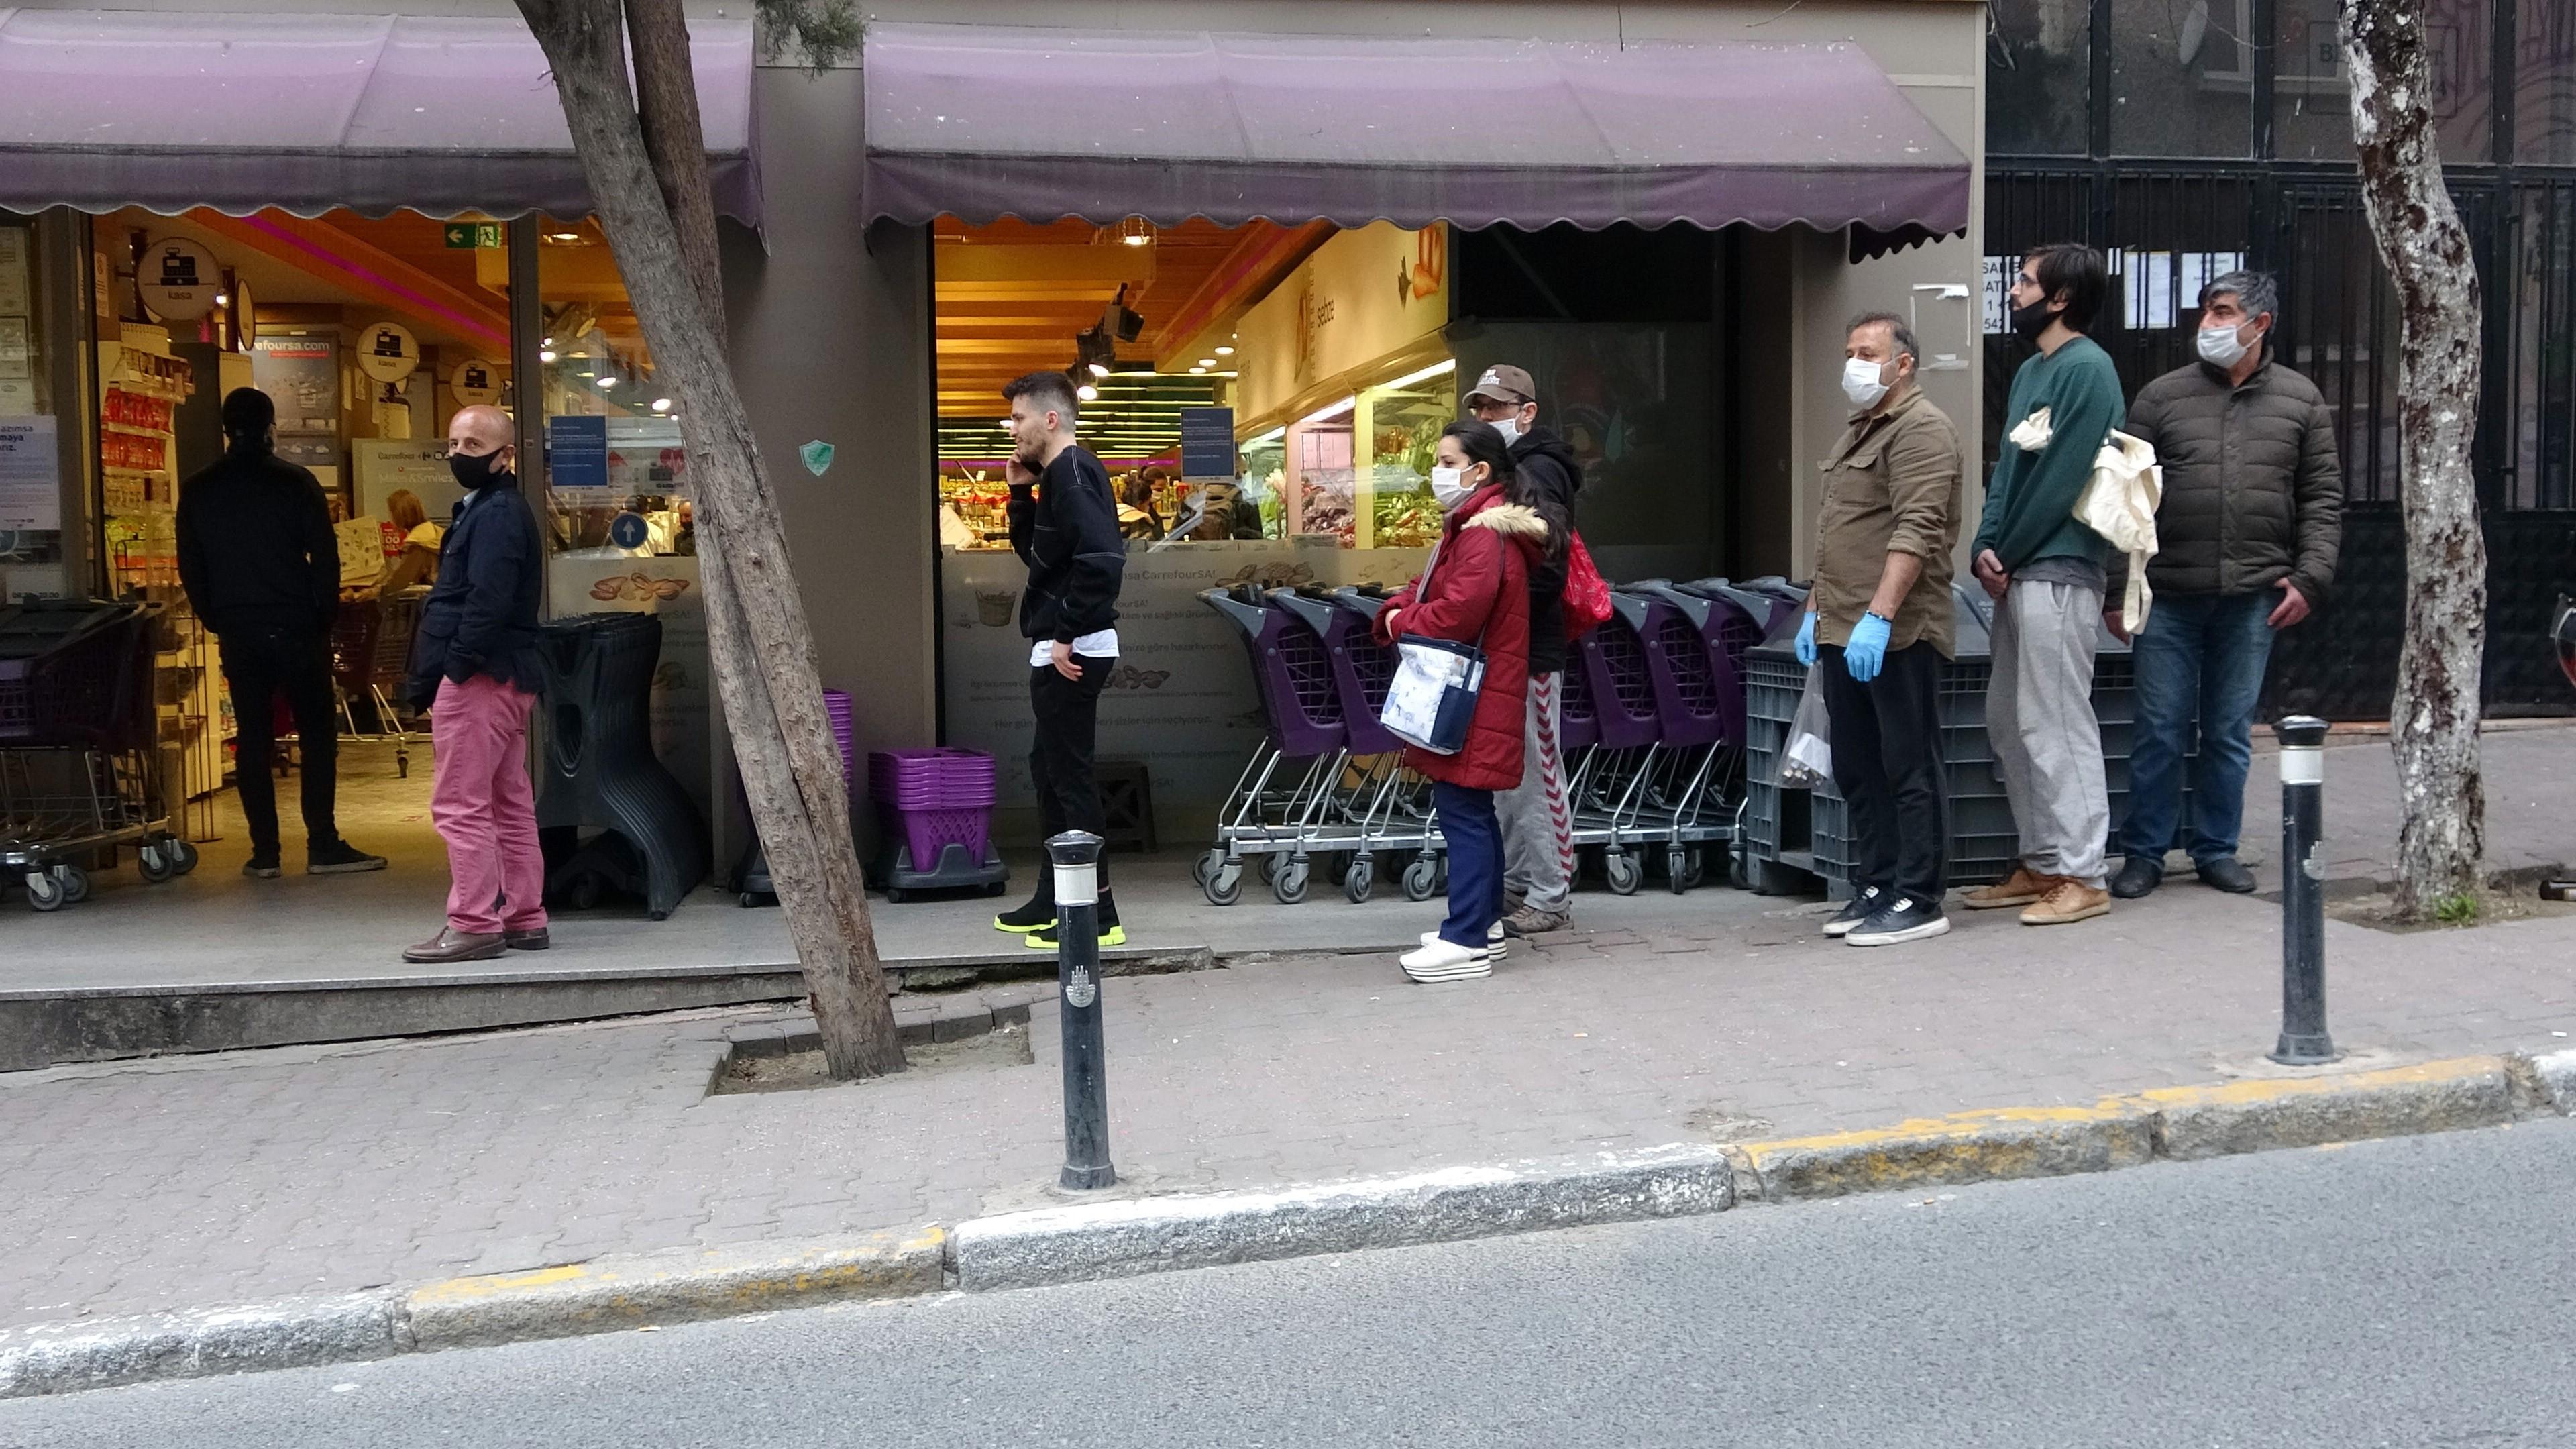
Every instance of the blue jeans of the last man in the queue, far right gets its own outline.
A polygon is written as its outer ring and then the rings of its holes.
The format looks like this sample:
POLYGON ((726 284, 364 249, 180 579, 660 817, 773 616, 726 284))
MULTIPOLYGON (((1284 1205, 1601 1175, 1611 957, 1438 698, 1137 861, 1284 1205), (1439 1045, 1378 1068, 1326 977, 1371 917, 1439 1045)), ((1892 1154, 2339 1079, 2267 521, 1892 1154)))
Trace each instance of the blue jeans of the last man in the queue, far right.
POLYGON ((2120 853, 2164 864, 2190 846, 2192 864, 2236 856, 2254 761, 2254 704, 2272 660, 2272 608, 2280 590, 2156 596, 2138 632, 2138 740, 2128 761, 2128 820, 2120 853), (2200 732, 2192 766, 2192 830, 2179 841, 2182 755, 2200 732))

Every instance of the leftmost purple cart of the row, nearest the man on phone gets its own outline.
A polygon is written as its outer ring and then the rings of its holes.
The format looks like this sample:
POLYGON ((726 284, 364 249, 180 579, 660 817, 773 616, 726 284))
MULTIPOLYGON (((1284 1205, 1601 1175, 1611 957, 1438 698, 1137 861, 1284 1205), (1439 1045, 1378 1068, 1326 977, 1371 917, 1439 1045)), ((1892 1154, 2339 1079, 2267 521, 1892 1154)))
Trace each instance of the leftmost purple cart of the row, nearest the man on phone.
POLYGON ((1342 838, 1329 825, 1350 761, 1350 727, 1332 655, 1314 624, 1273 606, 1252 585, 1211 588, 1198 598, 1242 634, 1267 732, 1226 792, 1216 843, 1198 856, 1193 874, 1211 905, 1234 905, 1242 900, 1244 856, 1252 856, 1280 905, 1296 905, 1306 900, 1316 843, 1342 838))

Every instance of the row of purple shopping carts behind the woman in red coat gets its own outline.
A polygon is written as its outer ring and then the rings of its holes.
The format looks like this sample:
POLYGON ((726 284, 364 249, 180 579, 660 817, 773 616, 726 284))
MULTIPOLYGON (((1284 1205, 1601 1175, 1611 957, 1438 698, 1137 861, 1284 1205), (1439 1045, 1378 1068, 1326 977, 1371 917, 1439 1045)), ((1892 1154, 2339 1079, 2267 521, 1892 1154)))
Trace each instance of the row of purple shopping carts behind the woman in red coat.
MULTIPOLYGON (((1200 596, 1242 634, 1265 740, 1218 812, 1195 877, 1213 905, 1257 869, 1283 905, 1316 869, 1352 902, 1394 874, 1409 900, 1445 884, 1430 784, 1378 724, 1394 652, 1370 637, 1376 588, 1218 588, 1200 596)), ((1638 580, 1574 642, 1561 740, 1574 843, 1605 884, 1636 892, 1662 859, 1674 892, 1731 869, 1744 804, 1744 655, 1785 632, 1806 590, 1780 578, 1638 580)), ((1734 874, 1734 871, 1731 871, 1734 874)))

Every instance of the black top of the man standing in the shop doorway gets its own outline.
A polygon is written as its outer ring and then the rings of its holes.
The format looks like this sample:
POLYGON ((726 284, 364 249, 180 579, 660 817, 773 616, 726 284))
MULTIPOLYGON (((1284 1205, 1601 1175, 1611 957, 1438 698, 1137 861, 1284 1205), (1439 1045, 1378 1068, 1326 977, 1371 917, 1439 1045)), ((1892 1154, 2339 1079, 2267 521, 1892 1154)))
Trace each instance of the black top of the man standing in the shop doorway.
POLYGON ((314 474, 237 446, 178 490, 178 580, 214 637, 330 634, 340 536, 314 474))

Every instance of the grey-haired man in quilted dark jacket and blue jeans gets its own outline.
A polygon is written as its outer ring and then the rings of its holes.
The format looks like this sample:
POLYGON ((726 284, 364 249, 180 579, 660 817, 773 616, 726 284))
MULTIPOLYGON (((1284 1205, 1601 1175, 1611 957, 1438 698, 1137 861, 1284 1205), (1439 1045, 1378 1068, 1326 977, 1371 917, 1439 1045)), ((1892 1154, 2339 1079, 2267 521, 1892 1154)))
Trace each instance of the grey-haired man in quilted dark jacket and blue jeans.
MULTIPOLYGON (((2164 853, 2187 846, 2200 882, 2254 890, 2236 861, 2254 704, 2272 632, 2326 601, 2344 529, 2334 413, 2313 382, 2272 356, 2280 291, 2231 271, 2200 289, 2200 361, 2138 389, 2128 431, 2156 446, 2164 505, 2154 606, 2136 639, 2138 740, 2112 895, 2136 900, 2164 879, 2164 853), (2192 768, 2192 828, 2177 841, 2182 758, 2192 768)), ((2120 598, 2117 580, 2105 598, 2120 598)), ((2117 627, 2117 614, 2112 614, 2117 627)))

